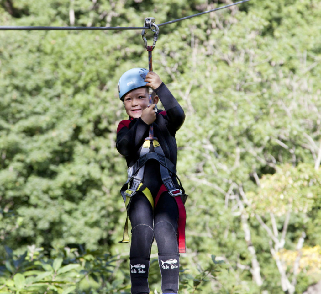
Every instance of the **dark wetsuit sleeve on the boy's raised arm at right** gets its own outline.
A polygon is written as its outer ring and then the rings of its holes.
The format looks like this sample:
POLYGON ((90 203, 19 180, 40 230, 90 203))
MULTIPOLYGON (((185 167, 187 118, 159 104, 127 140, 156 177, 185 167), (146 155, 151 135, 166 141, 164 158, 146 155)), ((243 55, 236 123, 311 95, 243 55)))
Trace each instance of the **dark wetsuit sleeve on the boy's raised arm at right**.
POLYGON ((170 128, 177 131, 185 120, 183 108, 179 105, 164 83, 155 90, 167 113, 170 128))

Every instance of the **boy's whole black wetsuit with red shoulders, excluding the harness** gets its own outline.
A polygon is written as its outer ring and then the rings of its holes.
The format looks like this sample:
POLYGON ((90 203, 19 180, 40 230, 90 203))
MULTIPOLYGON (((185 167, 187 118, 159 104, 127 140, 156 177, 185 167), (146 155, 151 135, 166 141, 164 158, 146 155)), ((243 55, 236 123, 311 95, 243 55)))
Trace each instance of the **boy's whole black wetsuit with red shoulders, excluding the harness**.
MULTIPOLYGON (((164 155, 176 166, 175 134, 183 124, 185 114, 164 83, 155 92, 165 111, 158 111, 153 123, 154 137, 158 138, 164 155)), ((116 147, 119 153, 126 157, 128 167, 139 159, 144 139, 149 136, 149 127, 141 118, 130 118, 119 123, 116 147)), ((151 145, 151 152, 152 148, 151 145)), ((173 182, 179 188, 174 176, 173 182)), ((151 159, 146 162, 142 183, 150 190, 155 201, 160 186, 163 184, 158 161, 151 159)), ((132 225, 130 248, 132 294, 149 293, 147 277, 154 238, 159 252, 162 291, 163 293, 177 293, 179 274, 178 207, 175 199, 168 192, 164 192, 153 210, 145 195, 142 192, 136 192, 130 201, 128 215, 132 225)))

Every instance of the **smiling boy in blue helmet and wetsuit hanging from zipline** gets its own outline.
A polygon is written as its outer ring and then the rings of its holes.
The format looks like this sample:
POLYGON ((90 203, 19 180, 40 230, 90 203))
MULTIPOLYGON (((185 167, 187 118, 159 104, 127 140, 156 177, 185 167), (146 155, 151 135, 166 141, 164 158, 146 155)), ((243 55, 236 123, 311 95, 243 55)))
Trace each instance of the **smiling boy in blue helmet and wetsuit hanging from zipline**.
MULTIPOLYGON (((176 179, 175 134, 185 114, 160 77, 147 69, 126 71, 119 79, 118 91, 129 116, 118 125, 116 147, 129 167, 128 181, 121 192, 132 225, 131 293, 150 292, 147 279, 154 238, 162 292, 178 293, 179 252, 185 252, 186 212, 182 202, 184 190, 176 179), (147 87, 154 90, 151 105, 147 87), (157 110, 159 99, 165 111, 157 110)), ((121 242, 128 241, 124 231, 121 242)))

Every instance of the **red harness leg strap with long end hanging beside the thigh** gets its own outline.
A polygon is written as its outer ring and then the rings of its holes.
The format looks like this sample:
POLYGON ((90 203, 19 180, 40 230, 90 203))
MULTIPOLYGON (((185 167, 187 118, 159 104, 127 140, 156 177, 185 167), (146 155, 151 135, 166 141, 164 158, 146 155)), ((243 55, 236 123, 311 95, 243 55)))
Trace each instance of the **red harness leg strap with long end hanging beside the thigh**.
MULTIPOLYGON (((155 207, 160 198, 160 195, 164 192, 168 191, 164 184, 161 185, 160 190, 157 193, 155 199, 155 207)), ((181 199, 181 196, 174 197, 178 206, 178 230, 177 230, 177 241, 178 241, 178 252, 185 253, 186 245, 185 245, 185 225, 186 225, 186 210, 181 199)))

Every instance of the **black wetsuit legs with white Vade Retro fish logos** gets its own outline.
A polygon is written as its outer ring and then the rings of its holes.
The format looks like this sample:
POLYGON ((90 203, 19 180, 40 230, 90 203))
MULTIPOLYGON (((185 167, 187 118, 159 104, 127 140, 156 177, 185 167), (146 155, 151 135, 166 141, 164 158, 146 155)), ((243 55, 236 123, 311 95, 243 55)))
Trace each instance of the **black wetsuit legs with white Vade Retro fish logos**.
MULTIPOLYGON (((145 169, 144 184, 155 201, 162 182, 157 169, 145 169)), ((154 210, 142 192, 136 192, 130 201, 128 215, 132 225, 130 247, 131 293, 149 294, 148 269, 152 243, 156 239, 163 293, 178 292, 178 206, 176 200, 163 192, 154 210)))

